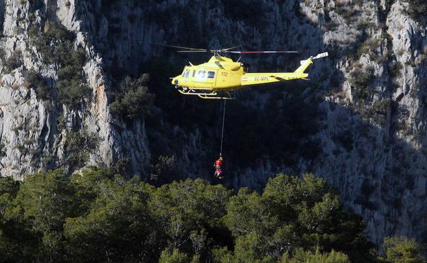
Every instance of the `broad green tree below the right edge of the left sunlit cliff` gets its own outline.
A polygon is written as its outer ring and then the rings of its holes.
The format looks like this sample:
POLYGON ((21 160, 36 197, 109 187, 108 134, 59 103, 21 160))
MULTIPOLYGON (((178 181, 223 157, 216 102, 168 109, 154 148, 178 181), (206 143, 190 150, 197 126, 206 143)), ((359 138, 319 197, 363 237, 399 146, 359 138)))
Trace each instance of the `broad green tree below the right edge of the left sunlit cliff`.
POLYGON ((101 179, 96 171, 88 174, 92 176, 89 180, 73 177, 83 199, 81 208, 88 210, 66 219, 68 253, 77 256, 79 262, 153 262, 164 245, 147 206, 150 186, 137 178, 101 179))

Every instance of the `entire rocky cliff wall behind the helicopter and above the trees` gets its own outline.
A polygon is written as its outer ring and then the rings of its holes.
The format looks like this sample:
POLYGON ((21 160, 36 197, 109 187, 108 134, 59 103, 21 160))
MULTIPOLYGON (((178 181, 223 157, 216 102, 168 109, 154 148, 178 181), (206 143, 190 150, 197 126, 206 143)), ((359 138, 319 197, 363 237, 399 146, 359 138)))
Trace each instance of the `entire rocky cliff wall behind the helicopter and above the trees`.
MULTIPOLYGON (((213 127, 216 122, 186 127, 185 120, 170 122, 167 115, 174 110, 173 105, 182 104, 180 109, 185 109, 180 118, 194 120, 194 115, 185 114, 200 101, 168 94, 163 90, 168 87, 168 79, 155 83, 157 89, 151 87, 158 103, 155 125, 146 124, 145 116, 125 122, 110 113, 120 75, 149 72, 151 63, 161 59, 165 60, 161 77, 172 76, 179 74, 174 70, 185 63, 186 58, 144 43, 219 48, 250 42, 253 49, 300 51, 298 58, 244 57, 263 70, 282 70, 286 66, 291 70, 300 59, 329 51, 329 59, 316 61, 310 69, 311 81, 297 83, 300 89, 303 87, 299 94, 305 104, 301 105, 313 106, 315 120, 310 122, 313 133, 301 135, 296 145, 289 146, 296 149, 289 153, 292 162, 271 156, 255 158, 252 165, 231 160, 233 171, 226 183, 259 188, 278 171, 313 172, 337 186, 346 206, 364 217, 367 232, 376 243, 386 235, 421 239, 427 230, 427 211, 422 205, 426 202, 427 179, 427 40, 426 28, 406 14, 406 5, 385 0, 277 0, 243 1, 244 8, 236 10, 220 0, 5 0, 0 12, 0 45, 4 51, 0 174, 21 179, 23 174, 41 168, 60 166, 71 171, 75 168, 70 165, 72 152, 83 156, 86 165, 114 165, 120 159, 129 160, 129 174, 142 176, 147 173, 150 156, 173 155, 185 176, 209 178, 211 164, 207 160, 214 158, 215 150, 211 148, 217 147, 211 142, 218 138, 218 128, 213 127), (46 31, 46 25, 52 23, 73 31, 74 48, 84 49, 86 55, 83 72, 91 92, 79 107, 67 107, 58 99, 55 83, 63 66, 47 63, 40 46, 31 40, 31 29, 46 31), (19 53, 22 63, 12 63, 10 57, 19 53), (165 53, 170 55, 168 59, 165 53), (179 65, 165 67, 174 64, 179 65), (37 88, 28 83, 29 70, 47 80, 53 90, 49 100, 40 98, 37 88), (70 144, 81 142, 75 138, 88 136, 96 137, 95 150, 70 150, 70 144), (315 142, 317 154, 299 151, 308 145, 307 141, 315 142)), ((149 73, 159 74, 154 70, 149 73)), ((238 103, 245 109, 259 109, 261 115, 272 104, 286 109, 294 94, 279 88, 261 92, 251 89, 240 95, 238 103)), ((207 108, 211 111, 198 114, 211 119, 220 112, 214 109, 218 105, 203 103, 211 105, 207 108)), ((304 115, 306 109, 300 111, 304 115)), ((240 117, 250 120, 250 116, 240 117)), ((289 119, 275 117, 268 124, 274 126, 275 120, 289 119)), ((228 124, 233 122, 236 120, 228 124)), ((235 128, 228 127, 233 134, 235 128)), ((279 137, 281 132, 279 128, 279 137)), ((279 150, 287 150, 287 139, 283 138, 284 148, 279 150)), ((83 139, 83 146, 89 144, 83 139)), ((238 147, 233 141, 226 146, 238 147)), ((243 149, 235 149, 237 154, 239 151, 243 149)))

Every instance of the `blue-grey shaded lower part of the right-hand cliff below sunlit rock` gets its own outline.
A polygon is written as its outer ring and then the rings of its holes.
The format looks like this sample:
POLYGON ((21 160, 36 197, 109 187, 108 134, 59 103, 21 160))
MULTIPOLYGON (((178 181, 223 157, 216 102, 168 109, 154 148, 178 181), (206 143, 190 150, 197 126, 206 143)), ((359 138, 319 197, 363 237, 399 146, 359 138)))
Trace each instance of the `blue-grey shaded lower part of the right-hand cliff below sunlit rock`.
MULTIPOLYGON (((387 99, 388 100, 388 99, 387 99)), ((337 186, 347 206, 362 214, 375 243, 384 236, 413 236, 425 242, 426 153, 400 137, 406 127, 397 101, 367 112, 324 102, 329 145, 301 172, 315 172, 337 186), (326 150, 325 150, 326 149, 326 150), (372 231, 376 230, 376 231, 372 231)))

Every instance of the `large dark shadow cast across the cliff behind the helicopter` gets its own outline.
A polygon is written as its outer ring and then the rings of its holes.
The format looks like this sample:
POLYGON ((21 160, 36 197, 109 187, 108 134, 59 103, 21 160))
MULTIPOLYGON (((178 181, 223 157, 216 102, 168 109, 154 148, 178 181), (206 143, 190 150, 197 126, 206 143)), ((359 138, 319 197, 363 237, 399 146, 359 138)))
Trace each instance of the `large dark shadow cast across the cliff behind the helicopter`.
MULTIPOLYGON (((276 25, 268 15, 250 16, 226 11, 221 19, 218 17, 216 20, 215 12, 212 13, 213 18, 207 16, 207 8, 198 12, 194 6, 178 3, 167 7, 153 3, 152 8, 144 11, 147 15, 140 18, 140 24, 133 24, 142 25, 146 33, 146 37, 138 40, 140 42, 164 41, 208 48, 251 42, 247 49, 285 47, 301 52, 298 57, 242 57, 257 71, 294 70, 300 59, 329 51, 329 59, 315 61, 315 65, 309 68, 311 81, 250 87, 240 92, 237 100, 228 103, 223 150, 227 175, 223 183, 234 188, 250 186, 261 189, 270 176, 281 171, 298 175, 314 172, 337 186, 346 204, 363 214, 371 230, 382 227, 380 231, 387 235, 427 236, 427 227, 423 227, 427 225, 427 208, 413 211, 409 221, 391 221, 398 220, 406 211, 402 207, 409 205, 405 203, 411 199, 408 196, 425 199, 425 186, 424 192, 415 190, 422 186, 415 182, 418 175, 410 174, 411 163, 416 163, 414 158, 425 156, 396 136, 396 130, 400 128, 395 118, 398 102, 390 101, 385 113, 372 109, 368 111, 371 115, 366 116, 365 111, 353 104, 348 107, 325 101, 325 98, 339 100, 345 79, 339 70, 335 70, 335 59, 348 49, 354 49, 357 43, 349 44, 345 49, 324 44, 324 31, 320 27, 302 16, 298 7, 289 10, 298 3, 289 1, 286 4, 288 9, 284 8, 285 4, 278 5, 279 13, 283 14, 281 21, 285 24, 283 31, 274 31, 276 25), (153 35, 153 30, 159 36, 153 35), (380 207, 383 204, 386 206, 380 207), (387 215, 390 221, 374 219, 376 211, 382 214, 378 217, 387 215), (404 223, 411 228, 408 233, 399 232, 404 223)), ((222 6, 222 1, 216 4, 222 6)), ((214 3, 207 6, 212 5, 214 3)), ((250 10, 250 7, 245 10, 250 10)), ((264 11, 266 14, 269 12, 264 11)), ((262 14, 261 11, 258 13, 262 14)), ((115 29, 114 21, 124 17, 116 16, 114 10, 107 16, 110 42, 118 40, 122 34, 115 29)), ((138 21, 139 18, 129 15, 129 20, 135 19, 138 21)), ((322 19, 327 20, 327 17, 322 19)), ((103 43, 104 50, 109 51, 110 48, 119 50, 114 45, 103 43)), ((213 161, 218 158, 220 150, 222 102, 181 96, 168 81, 168 77, 181 72, 185 62, 198 64, 209 59, 209 55, 178 57, 168 49, 138 45, 133 45, 129 53, 122 56, 124 61, 119 59, 120 52, 112 54, 109 72, 114 79, 125 74, 151 74, 149 88, 156 96, 158 109, 157 114, 146 120, 151 154, 174 156, 177 160, 178 176, 170 177, 168 174, 160 179, 163 180, 161 182, 186 177, 213 180, 213 161), (127 65, 132 66, 131 70, 127 65)))

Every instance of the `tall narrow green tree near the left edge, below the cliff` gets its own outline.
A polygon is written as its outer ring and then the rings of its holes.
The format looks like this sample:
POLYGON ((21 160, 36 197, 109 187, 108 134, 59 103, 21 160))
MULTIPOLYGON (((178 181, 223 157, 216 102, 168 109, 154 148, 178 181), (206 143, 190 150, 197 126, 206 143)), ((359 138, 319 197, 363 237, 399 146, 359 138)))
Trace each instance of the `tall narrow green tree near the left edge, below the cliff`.
POLYGON ((63 225, 66 217, 75 212, 73 197, 73 188, 60 169, 25 176, 13 201, 10 219, 19 224, 18 231, 36 241, 32 256, 38 260, 63 259, 63 225))

